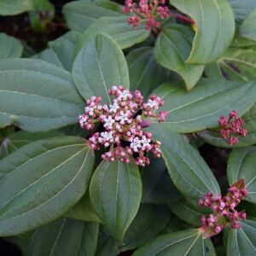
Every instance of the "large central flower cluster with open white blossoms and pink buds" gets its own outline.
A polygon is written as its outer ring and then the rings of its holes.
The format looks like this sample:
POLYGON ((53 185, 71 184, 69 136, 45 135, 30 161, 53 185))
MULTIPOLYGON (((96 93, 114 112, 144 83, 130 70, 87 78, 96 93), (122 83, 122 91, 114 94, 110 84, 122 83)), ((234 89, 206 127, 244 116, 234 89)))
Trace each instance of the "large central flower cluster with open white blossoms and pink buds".
POLYGON ((138 166, 149 164, 148 152, 154 157, 161 157, 160 142, 154 141, 152 134, 143 131, 143 127, 149 125, 145 117, 157 119, 163 122, 167 113, 155 111, 164 105, 159 96, 150 96, 147 102, 139 90, 131 94, 122 85, 113 86, 108 90, 108 95, 113 96, 113 103, 109 106, 101 104, 100 96, 92 96, 87 100, 84 113, 79 116, 82 129, 93 130, 96 123, 101 123, 102 131, 93 133, 89 138, 90 147, 94 150, 109 147, 109 151, 102 154, 103 160, 120 160, 125 163, 135 158, 138 166))

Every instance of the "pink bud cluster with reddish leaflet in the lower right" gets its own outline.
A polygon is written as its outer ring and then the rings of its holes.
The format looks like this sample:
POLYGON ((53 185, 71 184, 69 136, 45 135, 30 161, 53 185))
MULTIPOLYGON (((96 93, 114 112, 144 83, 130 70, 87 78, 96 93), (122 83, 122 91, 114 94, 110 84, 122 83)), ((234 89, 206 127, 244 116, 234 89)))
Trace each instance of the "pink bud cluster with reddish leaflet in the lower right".
POLYGON ((235 207, 246 196, 244 179, 241 179, 230 187, 224 197, 213 196, 211 192, 208 192, 204 200, 200 199, 198 201, 200 207, 212 208, 212 214, 208 218, 205 215, 201 217, 201 230, 205 237, 217 235, 228 223, 232 229, 239 229, 239 221, 246 220, 247 213, 245 211, 237 212, 235 207))

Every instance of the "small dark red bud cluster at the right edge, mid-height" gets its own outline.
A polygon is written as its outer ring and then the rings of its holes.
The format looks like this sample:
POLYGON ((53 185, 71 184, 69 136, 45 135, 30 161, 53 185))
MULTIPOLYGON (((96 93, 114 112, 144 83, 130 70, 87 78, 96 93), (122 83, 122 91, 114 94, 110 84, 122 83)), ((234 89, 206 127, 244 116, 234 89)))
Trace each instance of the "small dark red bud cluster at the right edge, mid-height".
POLYGON ((218 130, 220 137, 231 146, 238 143, 236 136, 246 137, 247 135, 247 130, 242 128, 244 121, 237 116, 235 110, 230 112, 229 118, 221 116, 218 119, 218 125, 220 126, 218 130))

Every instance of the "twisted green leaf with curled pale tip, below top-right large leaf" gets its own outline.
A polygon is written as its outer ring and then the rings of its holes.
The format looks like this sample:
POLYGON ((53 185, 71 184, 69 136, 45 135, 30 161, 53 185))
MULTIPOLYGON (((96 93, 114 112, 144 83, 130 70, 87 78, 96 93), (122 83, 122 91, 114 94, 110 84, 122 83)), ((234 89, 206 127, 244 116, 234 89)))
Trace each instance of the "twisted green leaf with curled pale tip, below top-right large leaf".
POLYGON ((203 73, 203 65, 185 63, 189 56, 193 32, 188 26, 166 26, 160 32, 154 47, 155 60, 161 66, 178 73, 184 80, 187 90, 191 90, 203 73))

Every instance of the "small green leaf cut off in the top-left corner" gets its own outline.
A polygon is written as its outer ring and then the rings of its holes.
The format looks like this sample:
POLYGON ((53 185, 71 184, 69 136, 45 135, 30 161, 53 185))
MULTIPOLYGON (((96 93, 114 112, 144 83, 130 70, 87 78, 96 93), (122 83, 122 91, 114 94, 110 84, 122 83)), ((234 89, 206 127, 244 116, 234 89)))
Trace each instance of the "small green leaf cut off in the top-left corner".
POLYGON ((19 15, 32 9, 33 0, 0 0, 0 15, 19 15))

